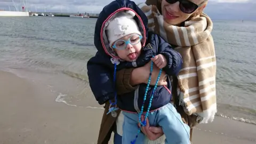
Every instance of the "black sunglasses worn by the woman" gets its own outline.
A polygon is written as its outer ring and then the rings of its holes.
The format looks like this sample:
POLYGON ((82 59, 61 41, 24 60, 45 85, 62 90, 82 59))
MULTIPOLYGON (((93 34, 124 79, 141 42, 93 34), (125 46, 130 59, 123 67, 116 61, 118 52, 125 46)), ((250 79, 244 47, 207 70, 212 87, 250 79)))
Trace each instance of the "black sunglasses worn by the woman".
POLYGON ((193 13, 199 6, 201 6, 202 4, 204 4, 205 0, 203 3, 197 5, 193 2, 190 2, 188 0, 165 0, 167 3, 169 4, 174 4, 174 3, 177 3, 177 2, 180 2, 180 10, 183 12, 183 13, 193 13))

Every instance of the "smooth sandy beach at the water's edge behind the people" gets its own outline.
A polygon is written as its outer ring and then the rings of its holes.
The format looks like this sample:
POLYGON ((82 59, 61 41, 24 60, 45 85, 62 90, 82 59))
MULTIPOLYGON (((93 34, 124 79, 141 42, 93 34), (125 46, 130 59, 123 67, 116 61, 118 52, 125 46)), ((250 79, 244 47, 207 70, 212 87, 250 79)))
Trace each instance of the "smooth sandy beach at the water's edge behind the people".
MULTIPOLYGON (((57 96, 0 71, 0 144, 97 143, 103 110, 71 107, 55 102, 57 96)), ((193 143, 251 144, 256 143, 255 135, 255 125, 216 117, 211 124, 196 126, 193 143)))

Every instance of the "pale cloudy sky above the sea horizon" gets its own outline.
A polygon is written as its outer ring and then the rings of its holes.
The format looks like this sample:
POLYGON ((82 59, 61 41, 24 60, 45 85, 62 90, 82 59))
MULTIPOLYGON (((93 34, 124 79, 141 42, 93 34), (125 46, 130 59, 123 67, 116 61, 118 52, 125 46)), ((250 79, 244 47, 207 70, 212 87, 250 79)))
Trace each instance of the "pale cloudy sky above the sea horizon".
MULTIPOLYGON (((13 2, 21 10, 26 0, 0 0, 0 10, 15 10, 13 2)), ((37 12, 99 13, 113 0, 27 0, 27 9, 37 12)), ((146 0, 134 0, 135 3, 146 0)), ((209 0, 205 8, 212 19, 256 20, 256 0, 209 0), (254 9, 253 9, 254 8, 254 9)))

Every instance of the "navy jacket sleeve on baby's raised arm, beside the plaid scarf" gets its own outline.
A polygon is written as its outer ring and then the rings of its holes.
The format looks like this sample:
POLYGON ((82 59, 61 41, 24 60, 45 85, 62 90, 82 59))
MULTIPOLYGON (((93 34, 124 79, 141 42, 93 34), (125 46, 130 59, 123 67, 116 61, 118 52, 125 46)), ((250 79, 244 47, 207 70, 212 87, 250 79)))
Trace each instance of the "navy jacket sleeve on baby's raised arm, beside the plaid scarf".
POLYGON ((163 68, 163 70, 167 75, 177 76, 183 64, 180 53, 173 50, 172 46, 161 36, 155 34, 154 37, 156 45, 158 45, 157 54, 163 54, 167 60, 167 65, 163 68))

